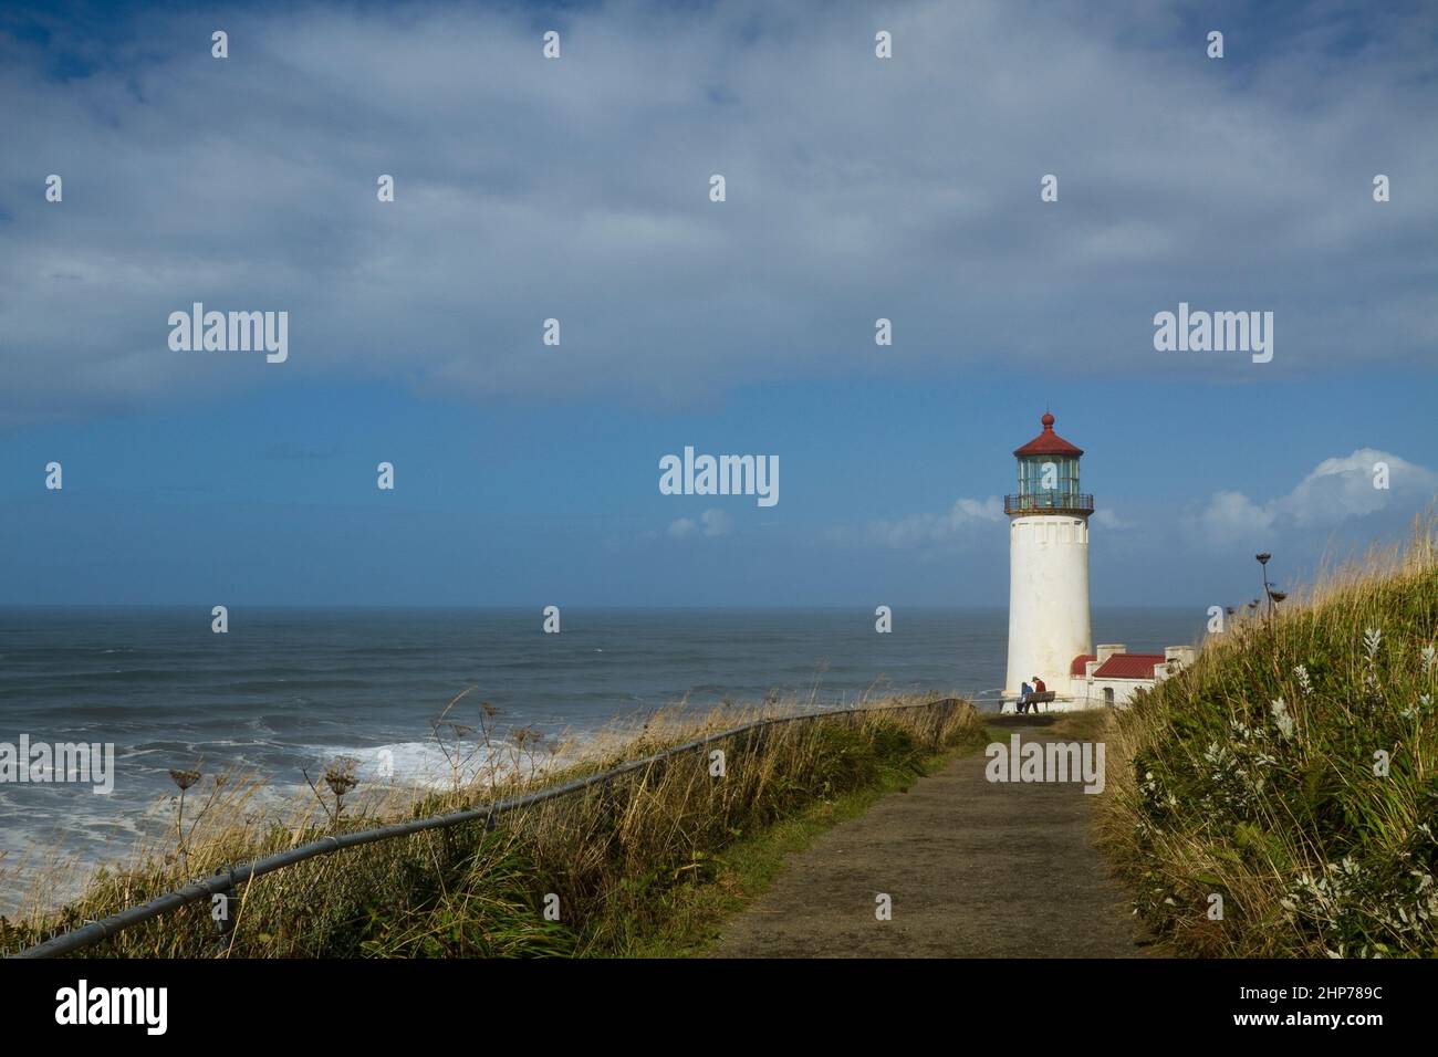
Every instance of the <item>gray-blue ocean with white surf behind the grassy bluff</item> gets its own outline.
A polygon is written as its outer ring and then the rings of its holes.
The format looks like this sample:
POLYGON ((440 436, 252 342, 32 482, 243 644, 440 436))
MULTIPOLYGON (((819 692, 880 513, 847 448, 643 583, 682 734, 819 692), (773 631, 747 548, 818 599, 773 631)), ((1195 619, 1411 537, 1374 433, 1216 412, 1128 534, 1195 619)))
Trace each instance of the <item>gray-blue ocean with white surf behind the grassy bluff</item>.
MULTIPOLYGON (((1096 641, 1130 650, 1196 643, 1201 608, 1093 611, 1096 641)), ((800 696, 818 706, 866 695, 992 695, 1004 679, 1007 610, 896 608, 893 633, 856 610, 562 611, 544 634, 538 610, 230 611, 207 608, 0 608, 0 743, 112 742, 109 794, 83 784, 0 781, 4 869, 27 850, 86 861, 121 857, 141 833, 173 824, 171 768, 257 771, 303 788, 335 756, 361 781, 439 775, 430 722, 475 723, 480 702, 505 729, 582 738, 679 702, 800 696)))

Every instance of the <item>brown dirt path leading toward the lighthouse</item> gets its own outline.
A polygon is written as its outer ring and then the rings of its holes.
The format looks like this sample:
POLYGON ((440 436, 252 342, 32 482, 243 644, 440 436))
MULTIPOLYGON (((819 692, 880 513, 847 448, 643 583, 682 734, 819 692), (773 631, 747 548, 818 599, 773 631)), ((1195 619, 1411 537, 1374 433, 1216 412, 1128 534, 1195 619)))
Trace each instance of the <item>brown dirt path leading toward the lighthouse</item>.
MULTIPOLYGON (((1031 718, 1015 720, 991 729, 1045 739, 1031 718)), ((1132 903, 1091 846, 1097 797, 1078 784, 991 784, 986 762, 955 759, 824 833, 725 923, 712 956, 1143 956, 1132 903), (874 916, 879 893, 892 920, 874 916)))

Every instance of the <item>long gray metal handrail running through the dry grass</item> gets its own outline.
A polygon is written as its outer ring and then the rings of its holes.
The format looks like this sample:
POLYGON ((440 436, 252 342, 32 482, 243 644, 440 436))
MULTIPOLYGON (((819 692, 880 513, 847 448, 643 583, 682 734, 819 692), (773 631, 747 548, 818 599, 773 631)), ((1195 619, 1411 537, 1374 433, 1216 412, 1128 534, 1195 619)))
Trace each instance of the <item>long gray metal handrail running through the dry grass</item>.
POLYGON ((712 745, 716 741, 723 741, 725 738, 733 738, 735 735, 745 733, 748 731, 756 731, 765 726, 777 726, 779 723, 792 723, 798 720, 821 719, 828 716, 850 716, 864 712, 905 712, 909 709, 930 709, 943 706, 952 710, 961 699, 958 697, 943 697, 936 702, 928 702, 923 705, 899 705, 899 706, 873 706, 863 709, 834 709, 825 712, 805 712, 795 716, 771 716, 769 719, 758 719, 752 723, 743 723, 742 726, 735 726, 729 731, 720 731, 719 733, 712 733, 706 738, 699 738, 692 742, 684 742, 683 745, 676 745, 673 748, 664 749, 663 752, 656 752, 643 759, 631 759, 618 767, 613 767, 608 771, 600 771, 597 774, 588 775, 585 778, 575 778, 572 781, 555 785, 546 790, 538 790, 535 792, 525 794, 522 797, 510 797, 508 800, 500 800, 493 804, 486 804, 483 807, 466 808, 464 811, 452 811, 444 815, 433 815, 430 818, 416 818, 408 823, 394 823, 391 825, 381 825, 377 830, 361 830, 360 833, 344 833, 331 837, 322 837, 321 840, 311 841, 309 844, 301 844, 298 848, 290 848, 288 851, 278 851, 272 856, 265 856, 263 859, 256 859, 252 863, 243 863, 224 873, 217 873, 213 877, 206 877, 203 880, 190 882, 173 892, 167 892, 162 896, 155 896, 154 899, 141 903, 139 906, 132 906, 128 910, 119 910, 108 918, 98 922, 89 922, 78 929, 70 929, 59 936, 52 936, 43 943, 36 943, 32 948, 26 948, 12 958, 56 958, 59 955, 66 955, 73 951, 82 951, 88 946, 99 943, 102 939, 115 936, 125 929, 131 929, 137 925, 151 920, 152 918, 160 918, 161 915, 170 913, 171 910, 178 910, 190 903, 197 903, 206 897, 233 894, 237 884, 246 884, 256 877, 263 877, 267 873, 275 873, 276 870, 283 870, 286 866, 295 866, 296 863, 303 863, 308 859, 315 859, 318 856, 334 854, 344 848, 357 847, 360 844, 374 844, 381 840, 393 840, 394 837, 407 837, 416 833, 424 833, 426 830, 441 830, 450 825, 459 825, 462 823, 473 823, 480 818, 485 820, 486 827, 493 827, 495 817, 500 814, 508 814, 519 808, 531 807, 546 800, 554 800, 558 797, 567 797, 572 792, 580 792, 591 785, 598 785, 607 782, 618 775, 630 774, 643 768, 653 767, 654 764, 663 762, 672 756, 677 756, 683 752, 693 752, 695 749, 712 745))

